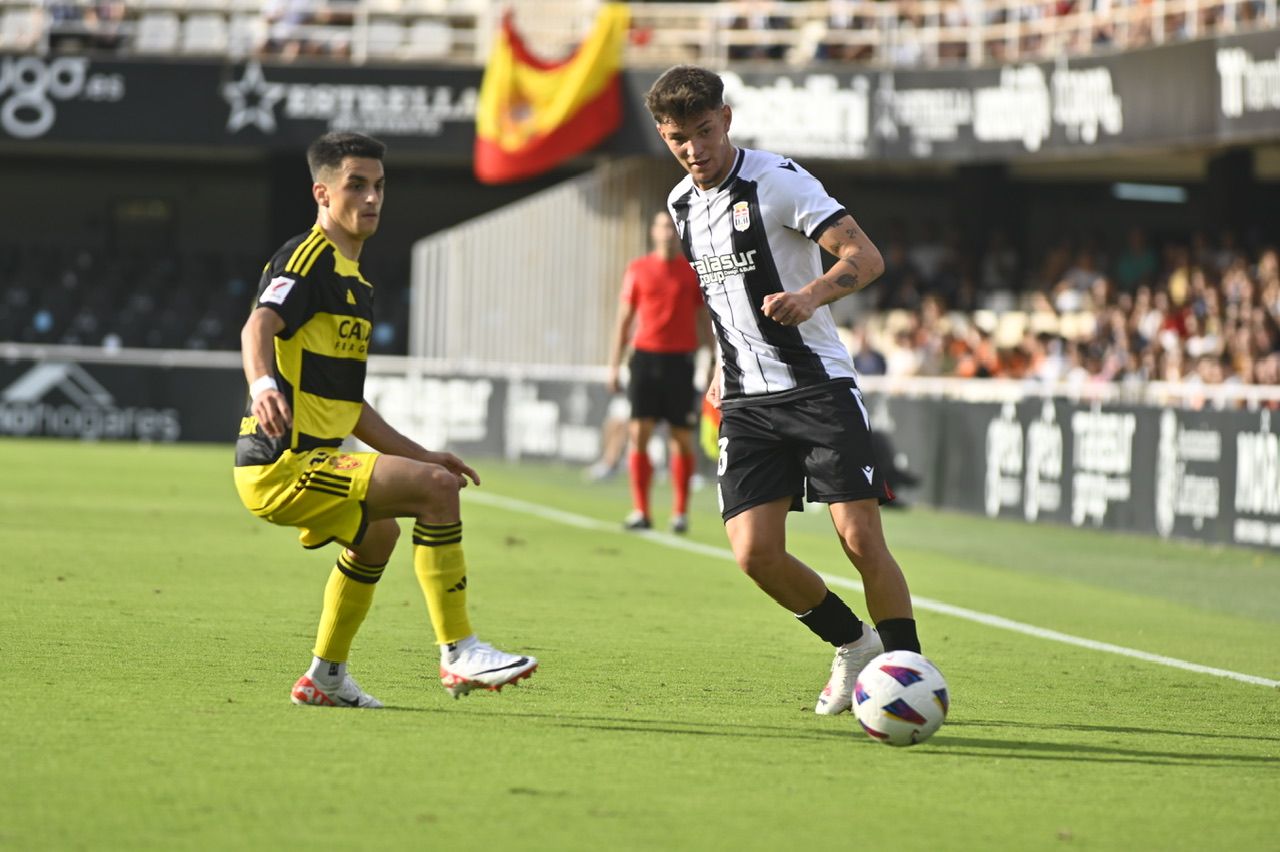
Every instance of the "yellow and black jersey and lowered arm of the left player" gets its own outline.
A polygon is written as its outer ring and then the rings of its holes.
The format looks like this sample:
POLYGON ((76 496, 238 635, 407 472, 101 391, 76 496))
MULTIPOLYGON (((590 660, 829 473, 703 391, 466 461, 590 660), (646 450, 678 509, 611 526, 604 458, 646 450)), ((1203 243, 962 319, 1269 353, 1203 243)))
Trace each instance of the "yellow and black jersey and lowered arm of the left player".
POLYGON ((338 446, 360 418, 374 319, 374 288, 316 225, 284 243, 262 270, 255 308, 284 320, 275 336, 275 381, 293 427, 273 439, 244 408, 236 464, 270 464, 285 450, 338 446))

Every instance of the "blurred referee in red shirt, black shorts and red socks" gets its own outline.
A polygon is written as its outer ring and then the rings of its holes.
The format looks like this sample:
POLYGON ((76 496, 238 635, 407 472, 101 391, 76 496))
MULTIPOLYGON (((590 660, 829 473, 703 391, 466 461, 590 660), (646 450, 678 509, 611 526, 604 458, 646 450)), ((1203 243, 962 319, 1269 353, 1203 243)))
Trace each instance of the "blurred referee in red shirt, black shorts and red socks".
POLYGON ((694 426, 698 425, 698 398, 694 393, 694 357, 698 354, 699 336, 709 343, 712 331, 707 324, 698 276, 680 253, 676 226, 667 211, 654 214, 649 238, 653 241, 653 251, 631 261, 622 279, 618 320, 613 330, 613 347, 609 349, 608 388, 611 394, 616 394, 622 354, 631 340, 627 467, 631 472, 632 512, 622 526, 627 530, 653 527, 649 516, 653 463, 649 461, 648 448, 658 421, 666 421, 669 431, 671 530, 687 532, 689 481, 696 464, 694 426))

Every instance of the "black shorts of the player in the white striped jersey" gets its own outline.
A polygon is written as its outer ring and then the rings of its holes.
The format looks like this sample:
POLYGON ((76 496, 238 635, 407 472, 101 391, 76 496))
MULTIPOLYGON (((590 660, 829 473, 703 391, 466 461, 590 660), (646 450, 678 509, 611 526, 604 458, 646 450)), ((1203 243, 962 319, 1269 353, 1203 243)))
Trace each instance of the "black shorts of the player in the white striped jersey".
POLYGON ((856 388, 785 403, 726 408, 721 420, 718 495, 726 521, 763 503, 893 499, 872 452, 867 408, 856 388))

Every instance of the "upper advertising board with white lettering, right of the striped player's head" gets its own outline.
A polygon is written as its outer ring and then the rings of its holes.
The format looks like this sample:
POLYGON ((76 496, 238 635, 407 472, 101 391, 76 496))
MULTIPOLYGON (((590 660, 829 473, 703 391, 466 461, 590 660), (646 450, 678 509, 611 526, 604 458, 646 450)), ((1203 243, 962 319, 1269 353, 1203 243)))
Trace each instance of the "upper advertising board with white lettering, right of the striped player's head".
MULTIPOLYGON (((1000 68, 755 65, 723 77, 736 142, 815 160, 1084 156, 1280 132, 1275 31, 1000 68)), ((627 81, 641 114, 654 78, 627 81)), ((663 152, 658 139, 648 150, 663 152)))

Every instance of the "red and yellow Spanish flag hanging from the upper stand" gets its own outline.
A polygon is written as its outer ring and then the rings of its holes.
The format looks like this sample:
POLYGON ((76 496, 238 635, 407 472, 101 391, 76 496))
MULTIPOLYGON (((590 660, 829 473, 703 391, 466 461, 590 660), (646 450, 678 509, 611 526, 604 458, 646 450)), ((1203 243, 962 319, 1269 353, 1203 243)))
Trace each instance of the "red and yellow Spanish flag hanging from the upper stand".
POLYGON ((628 24, 625 4, 604 4, 577 50, 548 63, 529 52, 507 12, 480 84, 476 179, 532 178, 590 151, 618 128, 628 24))

